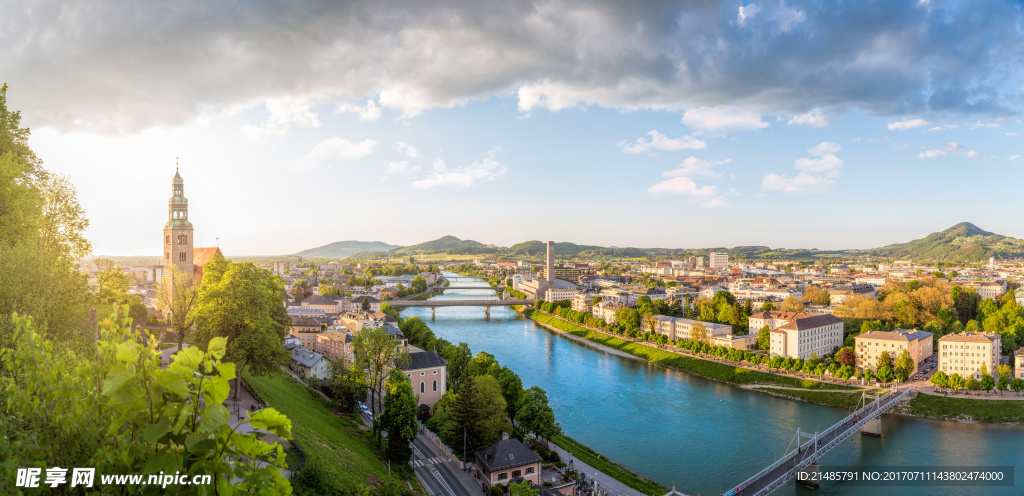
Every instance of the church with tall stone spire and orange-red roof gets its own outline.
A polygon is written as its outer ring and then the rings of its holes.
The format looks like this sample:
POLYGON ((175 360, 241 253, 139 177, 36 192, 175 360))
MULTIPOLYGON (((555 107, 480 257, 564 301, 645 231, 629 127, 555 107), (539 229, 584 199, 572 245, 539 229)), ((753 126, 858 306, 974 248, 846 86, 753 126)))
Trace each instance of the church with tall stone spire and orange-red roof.
POLYGON ((171 267, 187 274, 199 286, 203 280, 203 264, 214 256, 223 257, 219 247, 193 248, 195 237, 188 221, 188 199, 184 194, 184 180, 177 168, 171 180, 171 199, 167 201, 167 223, 164 224, 164 274, 171 267))

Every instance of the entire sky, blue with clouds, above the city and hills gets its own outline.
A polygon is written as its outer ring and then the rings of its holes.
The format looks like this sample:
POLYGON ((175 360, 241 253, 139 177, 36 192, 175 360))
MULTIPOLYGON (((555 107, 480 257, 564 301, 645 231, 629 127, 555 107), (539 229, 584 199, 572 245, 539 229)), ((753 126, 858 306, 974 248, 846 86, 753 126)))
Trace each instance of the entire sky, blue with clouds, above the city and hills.
POLYGON ((0 0, 97 255, 1024 238, 1024 2, 0 0))

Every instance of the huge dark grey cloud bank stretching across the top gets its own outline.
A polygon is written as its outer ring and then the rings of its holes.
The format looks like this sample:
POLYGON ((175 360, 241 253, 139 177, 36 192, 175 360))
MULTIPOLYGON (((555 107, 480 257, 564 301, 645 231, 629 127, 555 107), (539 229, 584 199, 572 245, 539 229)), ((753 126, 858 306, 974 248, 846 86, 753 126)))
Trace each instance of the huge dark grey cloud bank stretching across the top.
POLYGON ((101 133, 309 104, 247 128, 269 135, 316 106, 412 117, 509 94, 522 112, 990 119, 1017 112, 1002 86, 1024 61, 1017 2, 8 3, 0 67, 25 124, 101 133))

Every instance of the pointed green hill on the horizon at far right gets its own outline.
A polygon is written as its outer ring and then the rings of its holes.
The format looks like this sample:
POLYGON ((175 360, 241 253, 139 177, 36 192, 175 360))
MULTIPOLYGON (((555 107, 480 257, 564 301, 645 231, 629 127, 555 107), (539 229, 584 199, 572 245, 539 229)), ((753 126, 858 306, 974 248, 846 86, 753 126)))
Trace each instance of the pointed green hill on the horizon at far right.
POLYGON ((1021 256, 1024 254, 1024 242, 984 231, 971 222, 961 222, 920 240, 884 246, 868 252, 878 256, 914 260, 983 261, 993 256, 1021 256))

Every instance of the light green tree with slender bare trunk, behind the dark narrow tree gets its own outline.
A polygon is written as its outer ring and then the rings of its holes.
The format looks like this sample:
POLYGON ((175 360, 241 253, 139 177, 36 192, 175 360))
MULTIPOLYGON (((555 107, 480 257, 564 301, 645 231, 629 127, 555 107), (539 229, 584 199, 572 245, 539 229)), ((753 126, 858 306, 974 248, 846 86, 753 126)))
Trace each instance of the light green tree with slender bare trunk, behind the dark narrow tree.
POLYGON ((380 441, 380 422, 376 419, 382 407, 385 381, 392 368, 401 368, 409 363, 409 352, 402 349, 398 340, 388 334, 384 327, 364 327, 352 339, 352 358, 355 360, 355 367, 366 374, 366 384, 371 392, 374 435, 380 441))

